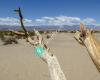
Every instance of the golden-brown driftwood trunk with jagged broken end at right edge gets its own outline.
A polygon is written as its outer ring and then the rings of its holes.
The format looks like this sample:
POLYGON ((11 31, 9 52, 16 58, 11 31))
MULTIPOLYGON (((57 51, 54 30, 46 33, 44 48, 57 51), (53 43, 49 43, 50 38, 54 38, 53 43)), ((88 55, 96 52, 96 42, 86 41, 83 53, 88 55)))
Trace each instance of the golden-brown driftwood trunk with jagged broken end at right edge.
POLYGON ((100 42, 92 34, 92 31, 86 29, 86 27, 81 23, 80 32, 77 31, 74 37, 80 44, 87 48, 91 59, 100 72, 100 42))

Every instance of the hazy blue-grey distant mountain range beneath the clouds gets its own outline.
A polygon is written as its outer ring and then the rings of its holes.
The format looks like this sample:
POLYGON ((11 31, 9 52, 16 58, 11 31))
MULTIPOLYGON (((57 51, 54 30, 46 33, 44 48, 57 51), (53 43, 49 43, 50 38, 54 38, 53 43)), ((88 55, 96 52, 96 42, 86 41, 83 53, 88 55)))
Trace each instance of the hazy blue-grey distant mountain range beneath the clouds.
MULTIPOLYGON (((91 29, 95 29, 95 30, 100 30, 100 26, 95 26, 95 25, 87 25, 88 28, 91 29)), ((79 25, 62 25, 62 26, 25 26, 28 30, 33 30, 33 29, 37 29, 37 30, 79 30, 79 25)), ((0 25, 0 30, 20 30, 21 27, 20 26, 10 26, 10 25, 0 25)))

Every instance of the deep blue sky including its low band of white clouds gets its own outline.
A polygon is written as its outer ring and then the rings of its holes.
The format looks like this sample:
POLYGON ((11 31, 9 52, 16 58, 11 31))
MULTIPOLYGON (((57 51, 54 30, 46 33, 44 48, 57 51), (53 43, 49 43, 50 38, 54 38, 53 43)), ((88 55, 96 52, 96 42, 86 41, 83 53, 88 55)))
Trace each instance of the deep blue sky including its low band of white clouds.
POLYGON ((18 25, 18 7, 26 25, 100 24, 100 0, 0 0, 0 25, 18 25))

